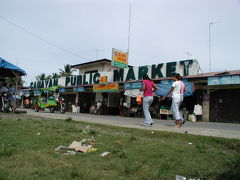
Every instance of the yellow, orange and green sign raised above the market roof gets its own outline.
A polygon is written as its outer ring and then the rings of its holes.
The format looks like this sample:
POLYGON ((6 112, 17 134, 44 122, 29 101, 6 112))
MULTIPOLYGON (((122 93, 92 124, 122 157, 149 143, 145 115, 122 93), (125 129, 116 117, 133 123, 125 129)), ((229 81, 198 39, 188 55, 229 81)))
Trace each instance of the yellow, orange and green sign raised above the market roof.
POLYGON ((128 67, 128 53, 119 51, 117 49, 112 50, 112 66, 118 68, 128 67))

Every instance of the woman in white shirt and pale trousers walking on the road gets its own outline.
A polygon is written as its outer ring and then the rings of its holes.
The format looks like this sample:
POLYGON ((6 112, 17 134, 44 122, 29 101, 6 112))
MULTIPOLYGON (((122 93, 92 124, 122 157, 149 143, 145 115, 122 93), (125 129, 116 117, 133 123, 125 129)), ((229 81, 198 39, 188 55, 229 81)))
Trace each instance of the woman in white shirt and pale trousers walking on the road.
POLYGON ((171 111, 173 114, 173 118, 175 119, 176 128, 181 127, 181 117, 180 117, 180 103, 181 103, 181 85, 179 83, 178 78, 180 74, 175 73, 172 75, 172 80, 174 81, 171 89, 168 91, 167 95, 163 97, 163 100, 168 97, 169 94, 172 93, 172 106, 171 111))

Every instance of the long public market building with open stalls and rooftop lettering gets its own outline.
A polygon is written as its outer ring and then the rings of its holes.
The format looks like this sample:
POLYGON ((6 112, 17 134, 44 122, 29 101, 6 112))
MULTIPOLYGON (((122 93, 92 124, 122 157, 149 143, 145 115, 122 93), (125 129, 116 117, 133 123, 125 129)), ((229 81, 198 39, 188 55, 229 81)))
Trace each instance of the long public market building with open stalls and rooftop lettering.
POLYGON ((171 75, 177 72, 183 76, 187 87, 185 116, 193 114, 195 105, 199 104, 201 121, 240 122, 237 117, 240 71, 200 73, 198 62, 192 59, 127 68, 113 67, 111 60, 101 59, 71 67, 79 74, 32 82, 30 87, 37 90, 60 86, 69 111, 80 106, 81 113, 89 113, 91 106, 101 102, 101 114, 141 116, 141 107, 135 98, 142 87, 143 75, 148 74, 159 87, 151 112, 155 118, 163 119, 168 118, 170 103, 161 102, 159 97, 170 89, 171 75))

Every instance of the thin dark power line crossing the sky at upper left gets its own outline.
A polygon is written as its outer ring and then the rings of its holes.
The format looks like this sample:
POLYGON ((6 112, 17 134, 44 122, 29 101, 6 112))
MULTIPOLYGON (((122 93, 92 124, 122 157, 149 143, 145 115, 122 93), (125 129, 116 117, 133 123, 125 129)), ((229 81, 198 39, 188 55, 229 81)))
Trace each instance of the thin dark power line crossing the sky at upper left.
POLYGON ((61 51, 64 51, 65 53, 71 54, 71 55, 76 56, 76 57, 79 57, 79 58, 81 58, 81 59, 85 59, 85 60, 89 59, 89 58, 82 57, 82 56, 78 55, 77 53, 75 53, 75 52, 73 52, 73 51, 71 51, 71 50, 68 50, 68 49, 66 49, 66 48, 63 48, 63 47, 61 47, 61 46, 59 46, 59 45, 57 45, 57 44, 55 44, 55 43, 53 43, 53 42, 51 42, 51 41, 48 41, 48 40, 40 37, 39 35, 37 35, 37 34, 31 32, 31 31, 27 30, 27 29, 24 28, 23 26, 19 26, 19 25, 17 25, 16 23, 10 21, 9 19, 7 19, 7 18, 5 18, 5 17, 3 17, 3 16, 1 16, 1 15, 0 15, 0 18, 3 19, 4 21, 8 22, 9 24, 11 24, 11 25, 13 25, 13 26, 21 29, 22 31, 30 34, 31 36, 39 39, 40 41, 42 41, 42 42, 44 42, 44 43, 46 43, 46 44, 48 44, 48 45, 50 45, 50 46, 53 46, 53 47, 55 47, 55 48, 57 48, 57 49, 59 49, 59 50, 61 50, 61 51))

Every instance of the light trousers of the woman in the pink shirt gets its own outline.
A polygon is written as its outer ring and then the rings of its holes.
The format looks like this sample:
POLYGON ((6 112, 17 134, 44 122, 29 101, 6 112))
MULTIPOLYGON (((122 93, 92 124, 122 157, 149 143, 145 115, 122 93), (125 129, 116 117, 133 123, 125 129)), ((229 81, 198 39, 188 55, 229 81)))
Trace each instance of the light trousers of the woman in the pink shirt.
POLYGON ((150 125, 151 123, 153 123, 151 114, 149 112, 149 108, 150 108, 152 102, 153 102, 153 96, 143 97, 143 113, 145 116, 144 124, 150 125))

